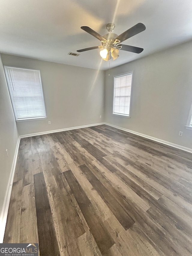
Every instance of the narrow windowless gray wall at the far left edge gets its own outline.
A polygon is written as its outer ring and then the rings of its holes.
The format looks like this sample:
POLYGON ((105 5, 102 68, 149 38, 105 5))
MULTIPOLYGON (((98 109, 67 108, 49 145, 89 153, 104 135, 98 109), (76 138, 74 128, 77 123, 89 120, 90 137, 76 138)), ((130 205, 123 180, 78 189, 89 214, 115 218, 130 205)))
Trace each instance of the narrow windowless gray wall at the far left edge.
POLYGON ((19 135, 0 56, 0 213, 18 137, 19 135), (6 149, 8 150, 8 157, 6 149))

